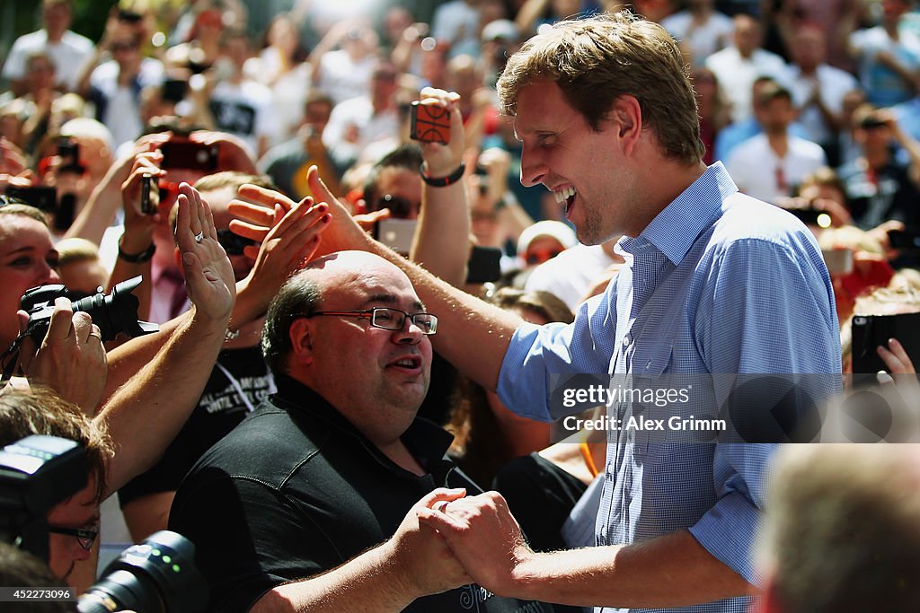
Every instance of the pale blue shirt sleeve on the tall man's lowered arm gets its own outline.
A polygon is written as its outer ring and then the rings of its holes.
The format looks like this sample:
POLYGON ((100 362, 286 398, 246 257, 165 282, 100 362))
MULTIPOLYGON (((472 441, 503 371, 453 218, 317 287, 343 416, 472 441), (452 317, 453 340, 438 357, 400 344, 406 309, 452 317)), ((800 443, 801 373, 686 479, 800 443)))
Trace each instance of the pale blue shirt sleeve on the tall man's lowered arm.
MULTIPOLYGON (((808 237, 798 248, 749 239, 731 244, 704 289, 696 333, 715 373, 808 373, 815 398, 839 391, 840 345, 830 278, 808 237), (769 296, 769 300, 765 300, 769 296), (814 376, 813 373, 822 373, 814 376)), ((690 528, 700 544, 753 584, 751 552, 776 445, 720 444, 713 460, 719 501, 690 528)))

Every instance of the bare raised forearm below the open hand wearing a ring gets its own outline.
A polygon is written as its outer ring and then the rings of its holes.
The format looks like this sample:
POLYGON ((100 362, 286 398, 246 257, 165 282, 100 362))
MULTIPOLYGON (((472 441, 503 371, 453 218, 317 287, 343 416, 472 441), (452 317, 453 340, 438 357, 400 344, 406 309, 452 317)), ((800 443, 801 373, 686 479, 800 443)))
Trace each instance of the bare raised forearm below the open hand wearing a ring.
POLYGON ((226 320, 199 316, 192 307, 166 346, 109 399, 97 419, 106 421, 116 446, 109 492, 147 470, 195 408, 221 347, 226 320))

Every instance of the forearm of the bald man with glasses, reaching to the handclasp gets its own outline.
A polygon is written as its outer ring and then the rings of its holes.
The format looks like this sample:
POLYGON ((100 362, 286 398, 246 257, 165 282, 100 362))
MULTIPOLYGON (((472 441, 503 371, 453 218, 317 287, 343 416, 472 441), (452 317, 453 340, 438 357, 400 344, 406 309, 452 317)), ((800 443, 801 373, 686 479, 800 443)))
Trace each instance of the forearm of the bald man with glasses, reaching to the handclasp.
POLYGON ((279 585, 265 593, 251 613, 340 613, 401 611, 422 594, 402 581, 388 543, 365 551, 328 573, 279 585))

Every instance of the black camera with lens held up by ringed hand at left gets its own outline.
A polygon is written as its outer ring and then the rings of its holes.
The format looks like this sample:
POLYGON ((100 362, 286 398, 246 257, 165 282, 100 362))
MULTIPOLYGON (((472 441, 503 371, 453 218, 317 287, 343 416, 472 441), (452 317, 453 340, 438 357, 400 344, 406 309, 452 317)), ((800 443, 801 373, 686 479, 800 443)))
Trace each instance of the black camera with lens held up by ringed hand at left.
MULTIPOLYGON (((157 324, 137 319, 140 301, 132 291, 141 284, 141 277, 129 278, 112 288, 108 296, 100 288, 98 293, 80 298, 74 302, 74 312, 89 313, 93 324, 99 326, 103 341, 114 340, 124 333, 129 336, 147 335, 159 330, 157 324)), ((26 291, 22 296, 22 309, 29 312, 26 335, 37 343, 41 342, 51 324, 56 298, 74 298, 71 292, 60 284, 42 285, 26 291)))

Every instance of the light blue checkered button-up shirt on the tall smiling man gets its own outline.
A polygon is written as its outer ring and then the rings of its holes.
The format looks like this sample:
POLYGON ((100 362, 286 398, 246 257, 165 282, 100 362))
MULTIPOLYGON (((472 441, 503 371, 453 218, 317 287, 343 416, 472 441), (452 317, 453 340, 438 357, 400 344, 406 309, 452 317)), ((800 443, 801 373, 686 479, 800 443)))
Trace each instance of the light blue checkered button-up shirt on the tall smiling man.
MULTIPOLYGON (((738 193, 721 163, 616 250, 627 265, 573 324, 515 332, 499 378, 500 398, 515 413, 563 416, 549 402, 558 373, 840 372, 821 249, 787 212, 738 193)), ((820 381, 822 394, 839 391, 839 379, 820 381)), ((598 544, 689 529, 757 583, 751 551, 775 446, 659 443, 615 432, 607 442, 598 544)), ((679 610, 742 613, 747 601, 679 610)))

